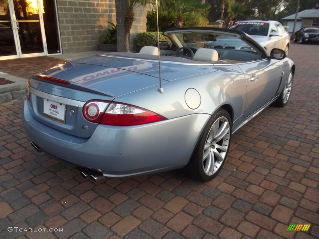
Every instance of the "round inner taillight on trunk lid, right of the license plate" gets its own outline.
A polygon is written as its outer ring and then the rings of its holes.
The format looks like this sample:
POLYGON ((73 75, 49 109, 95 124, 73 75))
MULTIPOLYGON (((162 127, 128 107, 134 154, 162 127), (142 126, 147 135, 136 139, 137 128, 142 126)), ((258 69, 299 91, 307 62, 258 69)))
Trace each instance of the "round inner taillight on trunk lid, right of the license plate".
POLYGON ((83 105, 82 113, 87 121, 99 123, 109 101, 90 100, 83 105))

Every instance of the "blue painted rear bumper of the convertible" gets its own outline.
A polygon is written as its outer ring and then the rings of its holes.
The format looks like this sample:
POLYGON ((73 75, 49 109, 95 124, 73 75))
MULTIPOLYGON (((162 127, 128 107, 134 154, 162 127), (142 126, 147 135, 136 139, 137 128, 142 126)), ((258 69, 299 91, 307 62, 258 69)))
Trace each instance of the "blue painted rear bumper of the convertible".
POLYGON ((192 114, 134 127, 98 125, 90 138, 79 138, 42 124, 23 101, 22 124, 43 151, 107 177, 124 177, 185 166, 209 114, 192 114))

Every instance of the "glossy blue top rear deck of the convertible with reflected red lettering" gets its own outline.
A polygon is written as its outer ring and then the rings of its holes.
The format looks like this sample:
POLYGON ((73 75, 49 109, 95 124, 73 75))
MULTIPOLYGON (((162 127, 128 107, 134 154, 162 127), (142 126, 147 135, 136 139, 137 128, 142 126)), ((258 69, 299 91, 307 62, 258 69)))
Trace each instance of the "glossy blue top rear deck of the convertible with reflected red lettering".
MULTIPOLYGON (((185 65, 178 62, 161 62, 163 81, 216 70, 213 65, 208 64, 185 65)), ((41 74, 70 81, 91 90, 108 92, 114 96, 159 84, 158 61, 107 55, 95 55, 60 64, 41 74)))

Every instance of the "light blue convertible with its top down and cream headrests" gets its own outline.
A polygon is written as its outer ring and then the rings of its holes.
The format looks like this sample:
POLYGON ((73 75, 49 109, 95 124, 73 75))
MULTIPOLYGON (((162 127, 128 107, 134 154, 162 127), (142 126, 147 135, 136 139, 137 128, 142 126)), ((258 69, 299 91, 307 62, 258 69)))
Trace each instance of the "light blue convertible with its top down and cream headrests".
POLYGON ((268 105, 285 106, 295 66, 238 30, 188 27, 140 53, 101 53, 32 76, 22 122, 37 150, 83 177, 124 177, 179 168, 208 181, 231 137, 268 105), (204 48, 230 36, 254 51, 204 48), (173 52, 173 55, 172 55, 173 52), (160 59, 159 59, 160 58, 160 59), (160 68, 159 68, 160 66, 160 68))

